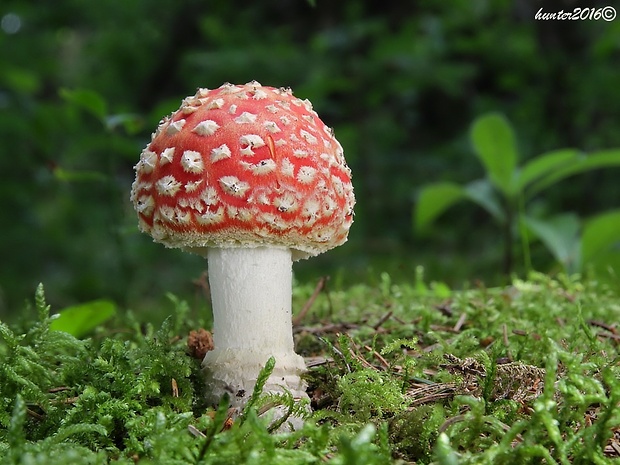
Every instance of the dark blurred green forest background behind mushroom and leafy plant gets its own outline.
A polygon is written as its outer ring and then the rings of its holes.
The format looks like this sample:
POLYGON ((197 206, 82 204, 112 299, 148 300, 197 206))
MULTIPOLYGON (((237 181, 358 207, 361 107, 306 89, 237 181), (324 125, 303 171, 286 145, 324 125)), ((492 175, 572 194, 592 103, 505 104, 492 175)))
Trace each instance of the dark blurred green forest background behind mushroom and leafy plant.
MULTIPOLYGON (((298 279, 330 273, 346 284, 386 270, 411 280, 423 265, 453 286, 500 283, 502 240, 488 215, 459 204, 421 236, 416 193, 484 175, 469 128, 488 111, 511 121, 521 161, 620 146, 620 19, 535 20, 541 7, 576 6, 3 0, 0 316, 40 281, 56 308, 104 297, 148 310, 166 291, 201 299, 204 261, 138 232, 133 165, 161 117, 197 87, 254 79, 310 99, 353 171, 349 242, 296 264, 298 279)), ((619 174, 564 181, 541 208, 617 208, 619 174)), ((532 247, 535 267, 553 270, 532 247)))

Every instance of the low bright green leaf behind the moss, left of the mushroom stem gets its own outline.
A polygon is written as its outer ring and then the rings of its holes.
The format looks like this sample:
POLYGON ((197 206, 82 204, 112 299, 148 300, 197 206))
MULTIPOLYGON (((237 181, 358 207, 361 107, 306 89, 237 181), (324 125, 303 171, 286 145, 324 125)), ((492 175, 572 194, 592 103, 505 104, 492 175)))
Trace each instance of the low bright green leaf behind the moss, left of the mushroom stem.
POLYGON ((116 314, 116 304, 109 300, 93 300, 67 307, 52 320, 50 329, 83 337, 116 314))

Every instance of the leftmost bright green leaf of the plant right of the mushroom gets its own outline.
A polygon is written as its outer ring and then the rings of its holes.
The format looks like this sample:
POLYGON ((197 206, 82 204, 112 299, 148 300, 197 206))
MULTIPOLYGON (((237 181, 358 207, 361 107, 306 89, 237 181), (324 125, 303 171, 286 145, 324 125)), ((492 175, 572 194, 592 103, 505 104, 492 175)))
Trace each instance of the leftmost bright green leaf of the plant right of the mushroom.
POLYGON ((444 211, 463 199, 464 190, 458 184, 440 182, 422 188, 415 207, 415 228, 423 230, 444 211))

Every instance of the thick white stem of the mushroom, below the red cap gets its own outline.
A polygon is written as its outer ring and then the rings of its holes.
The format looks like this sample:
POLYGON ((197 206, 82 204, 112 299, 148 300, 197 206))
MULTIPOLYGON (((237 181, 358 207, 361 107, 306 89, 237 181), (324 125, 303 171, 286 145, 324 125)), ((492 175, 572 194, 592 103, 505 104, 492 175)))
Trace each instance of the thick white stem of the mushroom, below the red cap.
POLYGON ((264 390, 307 398, 304 360, 293 346, 291 251, 211 248, 207 258, 215 347, 203 361, 209 399, 228 392, 232 405, 242 406, 271 356, 276 366, 264 390))

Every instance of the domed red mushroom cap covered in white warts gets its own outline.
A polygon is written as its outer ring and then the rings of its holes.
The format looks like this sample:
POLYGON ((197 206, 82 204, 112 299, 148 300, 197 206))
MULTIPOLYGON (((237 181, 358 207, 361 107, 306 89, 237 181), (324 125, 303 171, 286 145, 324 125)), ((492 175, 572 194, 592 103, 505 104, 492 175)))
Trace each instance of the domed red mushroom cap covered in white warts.
POLYGON ((140 229, 167 247, 274 245, 297 260, 344 243, 353 222, 342 146, 290 89, 198 89, 159 124, 135 169, 140 229))

